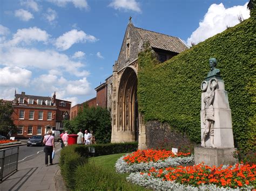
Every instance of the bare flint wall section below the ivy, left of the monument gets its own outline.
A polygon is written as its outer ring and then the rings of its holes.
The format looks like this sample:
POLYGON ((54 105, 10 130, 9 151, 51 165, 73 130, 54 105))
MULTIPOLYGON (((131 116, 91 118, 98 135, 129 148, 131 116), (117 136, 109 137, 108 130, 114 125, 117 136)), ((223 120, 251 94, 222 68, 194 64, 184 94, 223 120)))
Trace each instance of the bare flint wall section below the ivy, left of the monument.
POLYGON ((183 152, 193 152, 194 146, 196 146, 190 142, 186 135, 174 130, 169 124, 157 121, 146 123, 146 145, 147 148, 165 148, 168 150, 174 147, 183 152))

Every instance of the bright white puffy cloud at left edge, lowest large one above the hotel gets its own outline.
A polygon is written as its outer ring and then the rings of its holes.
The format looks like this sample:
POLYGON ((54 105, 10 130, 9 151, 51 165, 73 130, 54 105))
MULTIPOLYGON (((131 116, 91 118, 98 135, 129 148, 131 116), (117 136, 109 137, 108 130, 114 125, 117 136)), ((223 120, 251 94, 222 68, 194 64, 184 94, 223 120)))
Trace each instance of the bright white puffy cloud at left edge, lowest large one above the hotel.
POLYGON ((29 86, 32 72, 19 67, 0 68, 0 87, 29 86))

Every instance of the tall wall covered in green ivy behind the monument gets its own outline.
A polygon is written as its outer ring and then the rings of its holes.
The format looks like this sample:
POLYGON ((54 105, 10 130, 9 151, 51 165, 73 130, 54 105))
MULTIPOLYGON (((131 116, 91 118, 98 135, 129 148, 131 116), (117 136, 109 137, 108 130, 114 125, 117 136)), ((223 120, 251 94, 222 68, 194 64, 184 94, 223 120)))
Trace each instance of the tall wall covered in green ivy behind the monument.
POLYGON ((167 122, 200 142, 200 84, 216 58, 232 112, 235 147, 255 150, 255 22, 249 18, 159 63, 150 49, 139 54, 138 102, 145 121, 167 122))

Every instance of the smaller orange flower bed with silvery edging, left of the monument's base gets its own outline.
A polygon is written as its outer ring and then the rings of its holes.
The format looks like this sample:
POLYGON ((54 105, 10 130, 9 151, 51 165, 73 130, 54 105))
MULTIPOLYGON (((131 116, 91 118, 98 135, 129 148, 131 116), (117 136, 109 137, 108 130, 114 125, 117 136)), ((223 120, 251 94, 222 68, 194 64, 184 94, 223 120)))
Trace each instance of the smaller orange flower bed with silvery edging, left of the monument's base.
POLYGON ((194 162, 190 153, 178 153, 177 155, 166 150, 143 150, 127 154, 116 162, 118 173, 140 172, 154 168, 178 166, 194 162))

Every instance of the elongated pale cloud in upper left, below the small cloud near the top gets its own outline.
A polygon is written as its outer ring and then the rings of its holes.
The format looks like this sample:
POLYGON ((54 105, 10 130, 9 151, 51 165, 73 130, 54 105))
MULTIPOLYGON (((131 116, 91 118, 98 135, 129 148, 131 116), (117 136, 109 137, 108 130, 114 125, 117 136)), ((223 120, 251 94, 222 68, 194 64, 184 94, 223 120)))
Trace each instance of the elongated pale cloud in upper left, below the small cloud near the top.
POLYGON ((12 40, 8 42, 9 45, 17 45, 18 43, 30 44, 32 41, 46 41, 50 35, 37 27, 30 27, 29 29, 18 29, 14 34, 12 40))

